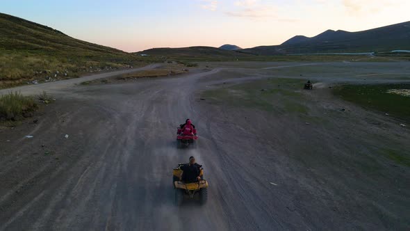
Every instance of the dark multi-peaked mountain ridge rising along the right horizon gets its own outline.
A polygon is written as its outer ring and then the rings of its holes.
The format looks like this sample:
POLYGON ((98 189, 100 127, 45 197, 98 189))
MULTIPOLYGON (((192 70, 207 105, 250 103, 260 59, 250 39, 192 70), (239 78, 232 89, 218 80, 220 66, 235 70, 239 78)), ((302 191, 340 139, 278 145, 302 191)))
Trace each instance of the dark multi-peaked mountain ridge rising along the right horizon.
POLYGON ((327 30, 315 37, 297 35, 277 46, 262 46, 240 51, 258 54, 317 54, 346 52, 389 52, 410 49, 410 22, 367 31, 327 30))

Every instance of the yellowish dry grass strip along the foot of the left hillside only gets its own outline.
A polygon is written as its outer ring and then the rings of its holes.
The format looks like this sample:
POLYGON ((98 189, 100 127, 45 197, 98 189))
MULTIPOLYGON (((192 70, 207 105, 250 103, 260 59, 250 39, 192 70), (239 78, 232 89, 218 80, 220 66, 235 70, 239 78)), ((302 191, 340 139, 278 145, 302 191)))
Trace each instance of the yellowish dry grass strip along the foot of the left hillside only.
MULTIPOLYGON (((81 54, 79 54, 81 55, 81 54)), ((10 54, 0 49, 0 88, 76 78, 83 74, 146 65, 139 61, 118 63, 103 58, 64 58, 47 54, 10 54), (94 60, 93 60, 94 59, 94 60)))

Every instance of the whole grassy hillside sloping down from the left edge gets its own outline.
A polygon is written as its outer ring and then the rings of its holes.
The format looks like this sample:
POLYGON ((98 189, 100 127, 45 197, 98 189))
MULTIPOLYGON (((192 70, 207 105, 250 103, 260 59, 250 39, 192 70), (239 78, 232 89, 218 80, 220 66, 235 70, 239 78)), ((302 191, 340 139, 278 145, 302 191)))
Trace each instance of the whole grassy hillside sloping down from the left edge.
POLYGON ((0 13, 0 88, 115 70, 149 61, 0 13))

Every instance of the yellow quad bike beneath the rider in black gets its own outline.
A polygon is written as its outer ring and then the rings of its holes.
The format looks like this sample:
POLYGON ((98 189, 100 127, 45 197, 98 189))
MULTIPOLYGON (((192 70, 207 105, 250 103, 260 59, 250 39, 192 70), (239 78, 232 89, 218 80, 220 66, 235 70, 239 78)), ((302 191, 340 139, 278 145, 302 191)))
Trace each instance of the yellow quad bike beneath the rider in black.
POLYGON ((177 168, 172 171, 172 184, 174 184, 175 189, 175 204, 181 205, 183 198, 189 197, 190 199, 198 199, 201 205, 206 203, 208 200, 208 182, 204 180, 204 168, 201 168, 200 177, 201 180, 198 182, 185 183, 181 181, 183 170, 181 166, 183 164, 178 164, 177 168))

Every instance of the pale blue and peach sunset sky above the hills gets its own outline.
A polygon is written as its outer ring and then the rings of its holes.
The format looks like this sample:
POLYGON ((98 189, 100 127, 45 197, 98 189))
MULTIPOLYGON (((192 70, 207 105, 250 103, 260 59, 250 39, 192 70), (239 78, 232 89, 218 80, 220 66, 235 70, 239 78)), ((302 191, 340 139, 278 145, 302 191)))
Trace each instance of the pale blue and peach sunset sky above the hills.
POLYGON ((1 13, 124 51, 278 45, 327 29, 361 31, 410 20, 409 0, 1 0, 1 13))

